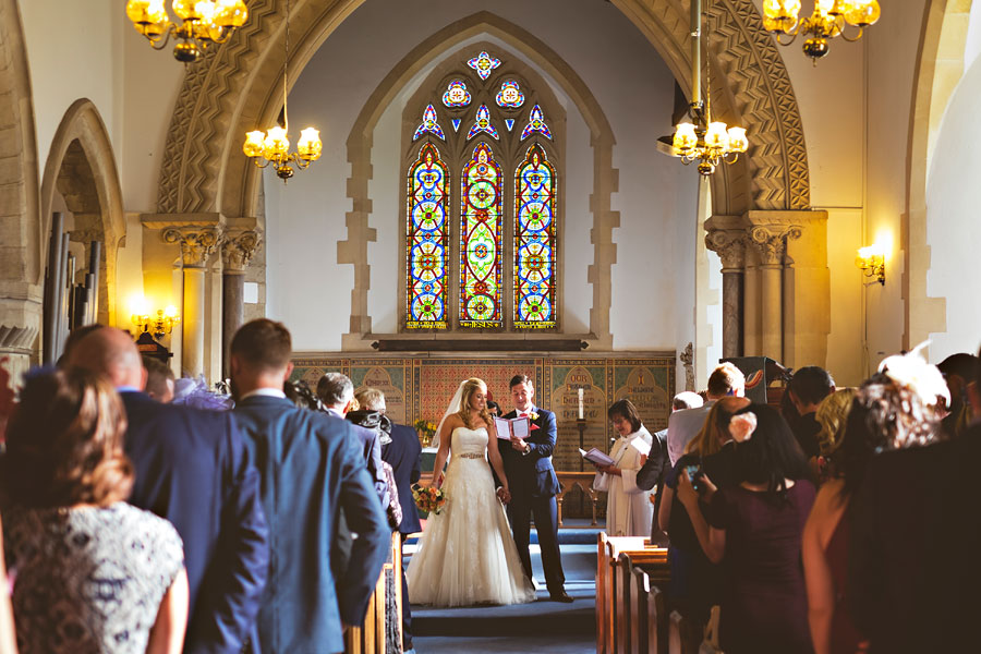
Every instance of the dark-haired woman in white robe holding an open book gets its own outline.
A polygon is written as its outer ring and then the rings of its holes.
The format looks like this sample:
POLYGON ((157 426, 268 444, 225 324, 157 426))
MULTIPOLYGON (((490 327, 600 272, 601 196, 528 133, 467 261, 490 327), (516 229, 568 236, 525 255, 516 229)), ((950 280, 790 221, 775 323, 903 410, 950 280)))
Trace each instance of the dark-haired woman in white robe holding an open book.
POLYGON ((596 489, 606 486, 606 533, 651 537, 654 505, 650 497, 655 491, 639 488, 637 473, 641 469, 641 455, 650 451, 654 438, 641 423, 637 407, 630 400, 614 402, 607 415, 620 437, 609 451, 614 462, 597 465, 598 474, 593 483, 596 489))

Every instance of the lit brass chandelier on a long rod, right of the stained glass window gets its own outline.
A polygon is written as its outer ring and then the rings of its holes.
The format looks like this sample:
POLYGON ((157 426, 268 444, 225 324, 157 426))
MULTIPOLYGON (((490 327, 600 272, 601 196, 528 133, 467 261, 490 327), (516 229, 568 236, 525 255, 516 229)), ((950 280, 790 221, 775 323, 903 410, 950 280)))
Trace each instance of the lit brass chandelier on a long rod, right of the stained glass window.
POLYGON ((688 116, 694 122, 682 122, 675 128, 671 154, 681 157, 681 162, 686 166, 698 161, 699 172, 710 175, 720 162, 735 164, 740 153, 744 153, 749 147, 749 141, 744 128, 729 128, 724 122, 712 120, 707 88, 705 100, 702 101, 701 40, 701 1, 691 0, 691 102, 688 106, 688 116))

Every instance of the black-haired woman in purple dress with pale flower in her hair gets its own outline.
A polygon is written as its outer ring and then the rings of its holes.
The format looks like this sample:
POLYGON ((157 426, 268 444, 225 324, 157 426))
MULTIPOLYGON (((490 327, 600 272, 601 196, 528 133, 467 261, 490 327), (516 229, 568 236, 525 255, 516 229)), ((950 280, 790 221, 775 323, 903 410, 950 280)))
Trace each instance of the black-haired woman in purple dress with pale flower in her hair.
POLYGON ((719 644, 726 654, 810 654, 801 533, 814 504, 808 462, 786 421, 751 404, 732 416, 749 431, 736 447, 741 484, 716 489, 699 475, 706 522, 687 471, 678 497, 705 555, 724 570, 719 644))

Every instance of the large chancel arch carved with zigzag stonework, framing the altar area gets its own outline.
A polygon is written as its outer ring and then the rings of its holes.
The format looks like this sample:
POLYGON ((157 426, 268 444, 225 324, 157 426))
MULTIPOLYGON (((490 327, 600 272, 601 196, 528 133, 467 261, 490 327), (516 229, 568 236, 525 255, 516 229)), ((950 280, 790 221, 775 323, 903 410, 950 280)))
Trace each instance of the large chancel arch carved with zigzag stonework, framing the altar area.
MULTIPOLYGON (((296 44, 291 69, 302 70, 363 1, 298 0, 291 21, 296 44)), ((687 86, 687 7, 678 0, 613 3, 687 86)), ((259 174, 241 155, 241 140, 255 124, 275 120, 282 106, 282 87, 275 83, 284 38, 280 5, 275 0, 252 2, 250 21, 235 37, 189 69, 164 153, 158 211, 256 213, 259 174)), ((808 208, 810 181, 800 112, 783 59, 762 29, 753 0, 715 0, 707 14, 716 114, 744 125, 752 140, 749 157, 714 177, 714 213, 808 208)))

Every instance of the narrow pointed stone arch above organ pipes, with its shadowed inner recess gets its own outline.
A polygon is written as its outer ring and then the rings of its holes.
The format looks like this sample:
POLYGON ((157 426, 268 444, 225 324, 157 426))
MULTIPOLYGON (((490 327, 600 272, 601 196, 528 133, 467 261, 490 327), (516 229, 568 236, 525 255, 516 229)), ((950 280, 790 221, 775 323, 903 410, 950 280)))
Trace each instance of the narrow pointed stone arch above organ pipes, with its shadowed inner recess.
POLYGON ((125 216, 109 133, 92 100, 75 100, 65 111, 51 141, 43 179, 41 215, 50 216, 56 191, 74 215, 71 240, 86 246, 80 267, 88 265, 88 243, 102 243, 98 319, 114 325, 116 257, 126 233, 125 216))

